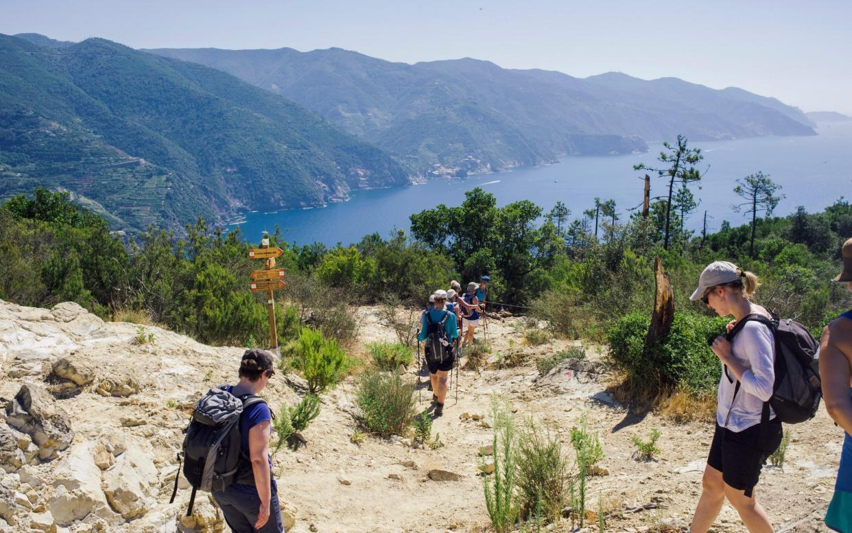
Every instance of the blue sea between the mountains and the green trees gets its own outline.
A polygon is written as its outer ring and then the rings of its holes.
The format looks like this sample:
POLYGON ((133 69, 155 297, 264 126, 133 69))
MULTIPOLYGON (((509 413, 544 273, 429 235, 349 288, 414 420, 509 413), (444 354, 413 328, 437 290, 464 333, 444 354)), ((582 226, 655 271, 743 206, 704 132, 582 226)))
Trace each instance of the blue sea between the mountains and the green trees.
MULTIPOLYGON (((693 187, 699 207, 687 226, 699 229, 707 214, 708 231, 729 221, 746 223, 746 216, 732 205, 742 200, 734 194, 736 181, 763 172, 782 187, 785 195, 775 215, 788 215, 797 206, 809 212, 825 209, 841 196, 852 197, 852 122, 820 123, 819 135, 802 137, 757 137, 740 140, 690 142, 701 148, 704 159, 698 168, 704 172, 700 188, 693 187)), ((410 215, 443 203, 458 206, 464 192, 482 187, 497 198, 498 206, 530 200, 546 213, 557 201, 571 209, 570 219, 594 205, 595 198, 615 200, 622 219, 631 210, 641 209, 643 171, 633 165, 659 166, 655 160, 663 146, 649 145, 646 153, 609 156, 566 156, 558 163, 513 169, 462 179, 438 178, 412 186, 359 190, 345 202, 329 203, 314 209, 285 209, 250 212, 239 216, 226 231, 239 227, 243 238, 258 242, 263 232, 279 226, 287 242, 328 246, 357 243, 365 235, 378 232, 387 238, 398 229, 409 229, 410 215)), ((651 196, 665 194, 665 178, 651 174, 651 196)))

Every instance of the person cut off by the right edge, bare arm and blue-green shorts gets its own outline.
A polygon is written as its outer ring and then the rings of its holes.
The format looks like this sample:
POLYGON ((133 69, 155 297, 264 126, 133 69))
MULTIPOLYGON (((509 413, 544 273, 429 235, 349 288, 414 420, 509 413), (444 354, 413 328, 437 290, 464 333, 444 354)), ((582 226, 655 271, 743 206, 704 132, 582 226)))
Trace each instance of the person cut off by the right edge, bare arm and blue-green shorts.
MULTIPOLYGON (((843 244, 843 272, 834 281, 852 291, 852 238, 843 244)), ((852 311, 844 312, 822 332, 820 379, 828 415, 845 432, 826 525, 852 533, 852 311)))

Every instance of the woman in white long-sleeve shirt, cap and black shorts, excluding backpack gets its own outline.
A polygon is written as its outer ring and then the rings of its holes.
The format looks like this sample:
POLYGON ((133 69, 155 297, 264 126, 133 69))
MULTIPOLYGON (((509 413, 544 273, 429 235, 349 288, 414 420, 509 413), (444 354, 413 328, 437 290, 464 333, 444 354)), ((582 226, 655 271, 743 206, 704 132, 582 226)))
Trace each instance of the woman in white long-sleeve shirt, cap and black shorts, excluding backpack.
POLYGON ((688 530, 691 533, 710 529, 725 498, 751 533, 772 531, 769 517, 755 499, 754 487, 783 433, 767 403, 775 381, 774 334, 768 325, 748 319, 750 315, 771 318, 766 309, 751 302, 758 284, 753 273, 727 261, 715 261, 701 272, 698 289, 690 296, 690 300, 704 301, 721 317, 734 316, 728 334, 733 341, 718 337, 712 345, 722 364, 722 379, 716 432, 702 479, 703 491, 688 530), (762 424, 763 416, 769 421, 762 424))

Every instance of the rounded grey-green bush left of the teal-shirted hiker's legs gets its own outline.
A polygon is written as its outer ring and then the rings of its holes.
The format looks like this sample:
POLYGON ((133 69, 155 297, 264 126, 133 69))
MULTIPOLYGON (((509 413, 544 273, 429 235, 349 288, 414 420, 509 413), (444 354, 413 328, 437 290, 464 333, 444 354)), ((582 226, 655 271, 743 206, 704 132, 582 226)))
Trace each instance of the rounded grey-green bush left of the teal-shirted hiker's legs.
POLYGON ((366 430, 384 438, 403 433, 417 404, 414 385, 395 372, 366 370, 360 375, 355 402, 366 430))

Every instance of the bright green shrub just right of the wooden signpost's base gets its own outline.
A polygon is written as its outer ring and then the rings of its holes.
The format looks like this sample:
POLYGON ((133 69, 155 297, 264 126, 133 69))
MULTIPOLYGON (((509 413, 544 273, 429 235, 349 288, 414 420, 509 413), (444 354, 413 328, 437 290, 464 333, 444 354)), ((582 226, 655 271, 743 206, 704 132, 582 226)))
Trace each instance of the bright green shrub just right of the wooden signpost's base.
POLYGON ((343 378, 348 358, 337 340, 327 339, 320 331, 306 327, 299 331, 291 349, 293 364, 308 380, 310 393, 321 393, 343 378))

